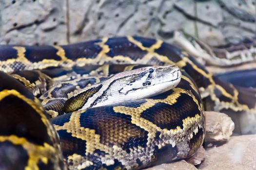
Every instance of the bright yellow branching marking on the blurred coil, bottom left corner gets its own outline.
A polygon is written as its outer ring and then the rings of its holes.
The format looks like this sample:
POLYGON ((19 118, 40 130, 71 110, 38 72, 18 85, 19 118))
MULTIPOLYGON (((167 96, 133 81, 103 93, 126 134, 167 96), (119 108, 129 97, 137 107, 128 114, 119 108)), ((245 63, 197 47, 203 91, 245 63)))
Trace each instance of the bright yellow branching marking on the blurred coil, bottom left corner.
POLYGON ((39 170, 39 161, 47 164, 48 158, 57 154, 56 149, 53 146, 47 143, 43 143, 43 146, 36 145, 27 141, 24 137, 18 137, 15 135, 0 136, 0 142, 4 141, 10 141, 14 145, 21 145, 27 151, 29 158, 25 170, 39 170))

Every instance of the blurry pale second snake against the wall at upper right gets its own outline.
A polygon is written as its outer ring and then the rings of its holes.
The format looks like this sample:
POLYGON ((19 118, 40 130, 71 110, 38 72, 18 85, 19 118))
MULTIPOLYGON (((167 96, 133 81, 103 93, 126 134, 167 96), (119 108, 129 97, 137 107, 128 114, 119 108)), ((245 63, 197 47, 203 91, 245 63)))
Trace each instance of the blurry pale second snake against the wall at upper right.
MULTIPOLYGON (((209 66, 224 67, 223 72, 226 72, 228 67, 239 68, 239 65, 256 61, 256 37, 244 37, 239 43, 230 42, 222 46, 210 46, 181 31, 175 32, 174 39, 198 62, 209 66)), ((247 66, 247 69, 249 68, 255 68, 255 64, 251 63, 251 66, 247 66)))

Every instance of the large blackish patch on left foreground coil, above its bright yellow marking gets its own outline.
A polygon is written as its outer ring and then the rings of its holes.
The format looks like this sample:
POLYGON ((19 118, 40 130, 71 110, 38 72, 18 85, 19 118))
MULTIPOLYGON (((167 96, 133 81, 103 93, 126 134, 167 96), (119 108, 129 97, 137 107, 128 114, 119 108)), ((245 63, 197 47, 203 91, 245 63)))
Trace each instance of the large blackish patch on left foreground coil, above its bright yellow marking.
POLYGON ((0 135, 16 135, 38 145, 52 145, 47 127, 28 103, 9 95, 0 101, 0 111, 0 135))

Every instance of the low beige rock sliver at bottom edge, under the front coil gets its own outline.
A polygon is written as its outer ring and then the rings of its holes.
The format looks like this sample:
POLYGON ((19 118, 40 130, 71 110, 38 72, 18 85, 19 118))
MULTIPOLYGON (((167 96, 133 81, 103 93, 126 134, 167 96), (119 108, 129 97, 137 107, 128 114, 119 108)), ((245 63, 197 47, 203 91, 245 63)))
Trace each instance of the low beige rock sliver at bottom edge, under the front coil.
POLYGON ((197 168, 194 165, 181 160, 170 164, 161 164, 145 170, 197 170, 197 168))

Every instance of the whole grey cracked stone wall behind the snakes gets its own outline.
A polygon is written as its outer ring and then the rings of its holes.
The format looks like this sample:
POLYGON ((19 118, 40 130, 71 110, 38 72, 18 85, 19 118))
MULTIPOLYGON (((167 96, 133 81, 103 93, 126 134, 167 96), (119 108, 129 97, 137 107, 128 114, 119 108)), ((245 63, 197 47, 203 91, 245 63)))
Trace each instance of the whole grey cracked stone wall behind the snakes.
POLYGON ((181 29, 210 45, 255 34, 254 0, 0 0, 0 44, 69 44, 181 29), (249 19, 244 19, 244 18, 249 19))

